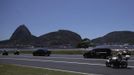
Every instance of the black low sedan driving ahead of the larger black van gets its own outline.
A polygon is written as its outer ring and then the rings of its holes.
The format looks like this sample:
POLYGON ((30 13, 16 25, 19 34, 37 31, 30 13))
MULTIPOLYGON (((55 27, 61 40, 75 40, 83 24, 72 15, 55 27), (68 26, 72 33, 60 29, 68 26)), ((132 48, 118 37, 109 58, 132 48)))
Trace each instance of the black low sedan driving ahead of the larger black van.
POLYGON ((38 49, 33 52, 33 56, 50 56, 51 51, 48 51, 47 49, 38 49))

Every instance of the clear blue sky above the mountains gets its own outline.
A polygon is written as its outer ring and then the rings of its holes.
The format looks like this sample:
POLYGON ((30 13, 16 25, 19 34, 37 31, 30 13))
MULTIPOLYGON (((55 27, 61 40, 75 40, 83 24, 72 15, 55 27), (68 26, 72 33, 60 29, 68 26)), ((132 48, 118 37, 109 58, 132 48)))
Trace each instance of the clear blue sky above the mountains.
POLYGON ((0 40, 22 24, 35 36, 64 29, 94 39, 134 31, 134 0, 0 0, 0 40))

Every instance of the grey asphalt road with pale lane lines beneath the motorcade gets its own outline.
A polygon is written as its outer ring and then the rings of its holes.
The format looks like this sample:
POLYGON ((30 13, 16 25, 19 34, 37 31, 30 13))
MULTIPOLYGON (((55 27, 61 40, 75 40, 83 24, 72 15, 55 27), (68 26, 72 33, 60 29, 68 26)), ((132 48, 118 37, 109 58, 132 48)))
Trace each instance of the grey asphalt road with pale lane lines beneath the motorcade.
POLYGON ((105 67, 105 59, 84 59, 82 55, 51 55, 35 57, 32 55, 0 55, 0 63, 28 65, 42 68, 61 69, 101 75, 134 75, 134 59, 129 60, 127 69, 105 67))

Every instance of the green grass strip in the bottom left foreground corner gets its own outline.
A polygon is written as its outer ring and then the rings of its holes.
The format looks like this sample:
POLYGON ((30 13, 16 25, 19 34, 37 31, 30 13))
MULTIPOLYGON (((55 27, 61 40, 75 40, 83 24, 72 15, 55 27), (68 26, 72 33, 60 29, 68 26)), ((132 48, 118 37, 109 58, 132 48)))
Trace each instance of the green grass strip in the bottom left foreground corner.
POLYGON ((78 73, 53 71, 9 64, 0 64, 0 75, 82 75, 78 73))

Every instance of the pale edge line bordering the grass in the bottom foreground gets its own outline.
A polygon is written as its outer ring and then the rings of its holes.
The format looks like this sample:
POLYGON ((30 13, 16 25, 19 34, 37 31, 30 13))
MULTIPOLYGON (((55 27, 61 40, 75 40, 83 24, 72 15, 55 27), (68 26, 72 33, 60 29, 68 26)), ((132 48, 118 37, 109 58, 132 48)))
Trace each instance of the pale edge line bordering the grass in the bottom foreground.
MULTIPOLYGON (((16 64, 13 64, 16 65, 16 64)), ((52 68, 44 68, 44 67, 37 67, 37 66, 28 66, 28 65, 18 65, 17 66, 24 66, 24 67, 32 67, 32 68, 39 68, 39 69, 47 69, 52 71, 61 71, 61 72, 69 72, 69 73, 77 73, 77 74, 83 74, 83 75, 102 75, 102 74, 94 74, 94 73, 84 73, 84 72, 77 72, 77 71, 69 71, 69 70, 62 70, 62 69, 52 69, 52 68)))

